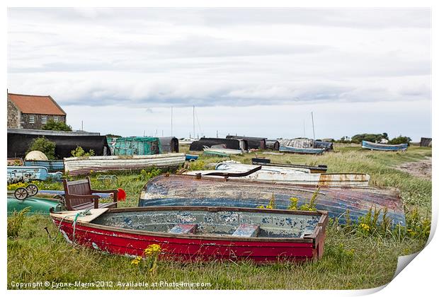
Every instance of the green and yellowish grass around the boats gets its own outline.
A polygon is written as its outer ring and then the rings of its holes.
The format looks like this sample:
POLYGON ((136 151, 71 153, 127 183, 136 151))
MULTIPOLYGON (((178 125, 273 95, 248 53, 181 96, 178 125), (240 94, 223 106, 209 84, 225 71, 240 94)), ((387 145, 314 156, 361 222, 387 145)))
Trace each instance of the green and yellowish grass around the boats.
MULTIPOLYGON (((360 150, 357 146, 337 146, 334 153, 323 156, 267 156, 276 163, 327 164, 330 172, 368 173, 371 183, 398 187, 401 190, 406 216, 417 209, 422 216, 431 216, 431 180, 422 180, 394 168, 431 156, 431 148, 410 147, 406 153, 380 153, 360 150)), ((232 157, 250 163, 255 154, 232 157)), ((220 161, 220 158, 201 156, 191 166, 220 161)), ((98 182, 92 177, 93 187, 122 187, 127 192, 120 206, 137 206, 139 193, 147 180, 156 173, 125 173, 117 182, 98 182)), ((44 184, 40 185, 44 187, 44 184)), ((60 184, 50 187, 62 188, 60 184)), ((335 223, 327 229, 324 257, 317 262, 274 263, 257 265, 252 262, 195 262, 178 263, 159 260, 156 274, 148 274, 131 264, 128 257, 106 255, 102 252, 70 245, 47 216, 25 216, 21 228, 8 238, 8 289, 12 281, 74 282, 106 281, 103 288, 136 289, 118 286, 118 282, 145 281, 148 288, 174 289, 166 286, 151 288, 154 282, 167 281, 209 283, 207 289, 367 289, 387 284, 397 267, 399 255, 421 250, 426 238, 380 234, 365 235, 346 231, 335 223), (50 235, 45 231, 45 227, 50 235)), ((51 287, 35 289, 52 289, 51 287)), ((70 289, 81 289, 76 286, 70 289)), ((206 289, 185 287, 183 289, 206 289)))

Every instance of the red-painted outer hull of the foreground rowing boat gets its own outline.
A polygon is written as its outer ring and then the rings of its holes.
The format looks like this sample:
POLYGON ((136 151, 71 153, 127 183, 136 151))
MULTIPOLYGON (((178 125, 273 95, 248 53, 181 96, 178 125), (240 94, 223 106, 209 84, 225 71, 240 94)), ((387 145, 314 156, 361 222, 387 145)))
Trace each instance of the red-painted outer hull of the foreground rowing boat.
MULTIPOLYGON (((149 211, 150 209, 159 208, 142 208, 141 211, 149 211)), ((175 207, 162 209, 175 209, 175 207)), ((189 235, 136 230, 135 228, 139 226, 144 228, 142 222, 137 226, 136 222, 130 221, 132 217, 130 217, 129 211, 136 211, 136 209, 108 210, 107 214, 113 214, 115 211, 122 216, 120 223, 116 219, 116 224, 119 226, 104 226, 102 223, 106 220, 99 221, 101 219, 99 217, 91 222, 82 222, 81 218, 78 218, 75 231, 73 230, 72 219, 74 216, 72 214, 64 219, 62 219, 62 213, 51 214, 51 216, 55 226, 59 226, 67 241, 116 255, 141 256, 149 245, 158 244, 162 250, 160 256, 173 260, 274 262, 279 260, 318 259, 323 255, 324 250, 326 214, 321 214, 312 234, 302 236, 302 238, 239 238, 227 235, 189 235), (130 221, 129 226, 124 223, 126 221, 130 221)), ((137 212, 139 212, 139 209, 137 209, 137 212)), ((224 216, 222 213, 224 211, 218 211, 217 218, 224 216)), ((184 216, 181 215, 180 217, 184 216)), ((229 217, 233 221, 232 218, 232 216, 229 217)), ((152 219, 143 221, 154 223, 152 219)))

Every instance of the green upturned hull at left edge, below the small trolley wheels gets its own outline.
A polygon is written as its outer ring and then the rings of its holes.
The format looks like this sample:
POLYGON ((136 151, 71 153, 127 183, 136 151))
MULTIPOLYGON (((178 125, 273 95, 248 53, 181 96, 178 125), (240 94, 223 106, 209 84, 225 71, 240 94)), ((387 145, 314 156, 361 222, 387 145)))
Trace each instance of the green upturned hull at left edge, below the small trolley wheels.
POLYGON ((13 214, 13 211, 21 211, 28 206, 30 206, 28 214, 50 214, 52 207, 55 211, 61 211, 61 205, 55 199, 29 197, 24 200, 18 200, 15 197, 8 197, 8 216, 13 214))

